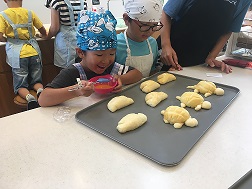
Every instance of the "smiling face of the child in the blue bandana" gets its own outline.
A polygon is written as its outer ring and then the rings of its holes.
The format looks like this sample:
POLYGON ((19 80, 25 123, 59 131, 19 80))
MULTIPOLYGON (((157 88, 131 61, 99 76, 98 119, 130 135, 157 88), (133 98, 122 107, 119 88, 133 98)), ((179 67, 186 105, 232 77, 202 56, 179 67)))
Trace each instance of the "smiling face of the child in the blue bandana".
POLYGON ((115 61, 116 49, 82 52, 83 66, 97 74, 102 74, 115 61))

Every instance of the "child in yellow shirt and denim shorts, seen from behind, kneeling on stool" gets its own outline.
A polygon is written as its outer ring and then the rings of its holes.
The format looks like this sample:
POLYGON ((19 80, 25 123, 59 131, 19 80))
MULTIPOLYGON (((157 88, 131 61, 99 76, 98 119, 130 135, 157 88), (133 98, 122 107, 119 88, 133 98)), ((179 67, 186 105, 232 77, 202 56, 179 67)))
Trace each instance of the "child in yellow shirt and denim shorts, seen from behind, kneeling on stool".
POLYGON ((43 90, 42 59, 34 26, 42 37, 46 36, 46 30, 33 11, 22 8, 22 0, 4 2, 8 9, 0 13, 0 41, 7 42, 6 62, 12 67, 14 92, 26 99, 28 109, 32 109, 37 101, 29 89, 37 93, 43 90))

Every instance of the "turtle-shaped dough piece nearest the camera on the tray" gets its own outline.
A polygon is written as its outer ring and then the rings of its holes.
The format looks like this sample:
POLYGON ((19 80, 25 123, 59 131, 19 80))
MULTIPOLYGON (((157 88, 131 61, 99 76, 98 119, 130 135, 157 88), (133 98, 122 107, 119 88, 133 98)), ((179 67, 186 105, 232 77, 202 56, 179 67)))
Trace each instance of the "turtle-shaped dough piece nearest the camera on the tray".
POLYGON ((198 121, 195 118, 191 118, 189 112, 179 106, 168 106, 165 110, 161 111, 161 114, 164 116, 164 122, 173 124, 176 129, 181 128, 184 123, 189 127, 198 125, 198 121))

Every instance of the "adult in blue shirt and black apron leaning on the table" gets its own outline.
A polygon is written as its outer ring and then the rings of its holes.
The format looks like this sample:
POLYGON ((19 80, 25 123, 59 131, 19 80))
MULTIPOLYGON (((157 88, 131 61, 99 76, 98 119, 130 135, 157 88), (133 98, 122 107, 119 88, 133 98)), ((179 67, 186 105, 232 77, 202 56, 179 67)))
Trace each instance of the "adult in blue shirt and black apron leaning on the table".
POLYGON ((163 8, 163 63, 178 70, 204 64, 232 72, 215 60, 232 32, 238 32, 251 0, 169 0, 163 8))

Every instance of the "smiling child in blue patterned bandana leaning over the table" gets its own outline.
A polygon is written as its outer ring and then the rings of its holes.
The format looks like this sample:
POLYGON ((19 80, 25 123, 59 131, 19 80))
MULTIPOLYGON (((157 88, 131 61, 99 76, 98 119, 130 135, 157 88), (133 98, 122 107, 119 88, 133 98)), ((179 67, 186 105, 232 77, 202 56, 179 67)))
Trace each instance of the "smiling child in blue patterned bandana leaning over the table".
POLYGON ((113 75, 118 80, 114 92, 120 91, 122 85, 142 79, 137 69, 115 62, 116 23, 110 11, 80 12, 76 51, 82 60, 61 70, 46 86, 38 99, 40 106, 53 106, 74 97, 90 96, 94 92, 93 84, 87 80, 95 76, 113 75), (76 78, 81 78, 81 81, 77 83, 76 78))

